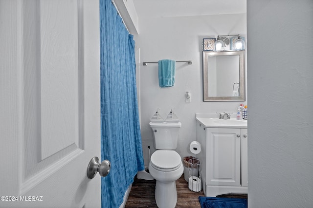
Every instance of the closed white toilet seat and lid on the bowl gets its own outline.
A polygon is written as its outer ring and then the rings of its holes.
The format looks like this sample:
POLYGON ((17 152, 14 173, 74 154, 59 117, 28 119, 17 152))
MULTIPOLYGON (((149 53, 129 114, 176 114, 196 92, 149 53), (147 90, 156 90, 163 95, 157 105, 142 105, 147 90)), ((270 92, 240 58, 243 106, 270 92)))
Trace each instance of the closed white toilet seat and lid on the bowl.
POLYGON ((181 166, 179 153, 174 150, 157 150, 151 155, 151 165, 160 171, 173 171, 181 166))

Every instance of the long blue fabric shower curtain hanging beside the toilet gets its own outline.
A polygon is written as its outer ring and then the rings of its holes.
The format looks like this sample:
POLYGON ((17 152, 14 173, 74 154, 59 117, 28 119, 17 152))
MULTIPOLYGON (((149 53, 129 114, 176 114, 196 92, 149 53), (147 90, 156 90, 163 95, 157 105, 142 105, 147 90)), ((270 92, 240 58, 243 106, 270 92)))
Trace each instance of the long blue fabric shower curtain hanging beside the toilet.
POLYGON ((102 208, 118 208, 137 171, 144 169, 136 95, 134 39, 111 0, 100 0, 102 208))

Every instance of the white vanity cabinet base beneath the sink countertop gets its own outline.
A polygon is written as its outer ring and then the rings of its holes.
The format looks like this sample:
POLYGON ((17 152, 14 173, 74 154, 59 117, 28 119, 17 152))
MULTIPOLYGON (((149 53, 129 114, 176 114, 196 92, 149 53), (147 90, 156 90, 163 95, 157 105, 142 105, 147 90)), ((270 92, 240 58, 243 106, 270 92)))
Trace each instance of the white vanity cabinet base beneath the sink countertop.
POLYGON ((247 129, 207 127, 197 121, 197 141, 204 194, 247 193, 247 129))

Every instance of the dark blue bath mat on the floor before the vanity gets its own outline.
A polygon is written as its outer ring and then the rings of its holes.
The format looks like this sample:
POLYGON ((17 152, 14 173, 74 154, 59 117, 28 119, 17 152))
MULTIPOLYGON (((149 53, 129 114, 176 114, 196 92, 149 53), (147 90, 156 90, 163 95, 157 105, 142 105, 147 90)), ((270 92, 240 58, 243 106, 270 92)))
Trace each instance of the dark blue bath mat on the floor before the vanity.
POLYGON ((201 208, 247 208, 247 199, 199 196, 201 208))

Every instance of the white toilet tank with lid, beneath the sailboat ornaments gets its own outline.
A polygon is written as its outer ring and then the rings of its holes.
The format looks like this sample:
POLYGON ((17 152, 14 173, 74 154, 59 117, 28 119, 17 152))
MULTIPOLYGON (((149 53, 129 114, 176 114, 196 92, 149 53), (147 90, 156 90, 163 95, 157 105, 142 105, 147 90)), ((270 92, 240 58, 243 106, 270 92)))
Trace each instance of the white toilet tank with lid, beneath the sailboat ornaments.
POLYGON ((156 150, 175 150, 181 123, 149 123, 153 133, 153 146, 156 150))

